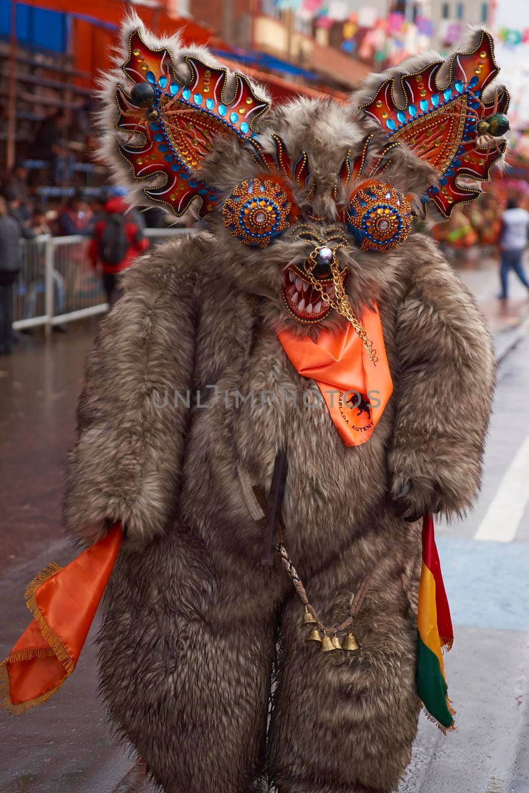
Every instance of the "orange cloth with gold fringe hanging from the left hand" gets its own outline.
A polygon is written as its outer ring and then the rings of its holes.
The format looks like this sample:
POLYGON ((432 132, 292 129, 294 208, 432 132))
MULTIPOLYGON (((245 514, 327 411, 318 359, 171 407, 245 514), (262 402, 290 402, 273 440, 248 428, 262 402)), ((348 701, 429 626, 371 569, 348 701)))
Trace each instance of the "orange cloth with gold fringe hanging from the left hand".
POLYGON ((21 714, 46 702, 74 671, 121 545, 121 524, 66 567, 54 562, 25 600, 33 622, 0 665, 0 701, 21 714))

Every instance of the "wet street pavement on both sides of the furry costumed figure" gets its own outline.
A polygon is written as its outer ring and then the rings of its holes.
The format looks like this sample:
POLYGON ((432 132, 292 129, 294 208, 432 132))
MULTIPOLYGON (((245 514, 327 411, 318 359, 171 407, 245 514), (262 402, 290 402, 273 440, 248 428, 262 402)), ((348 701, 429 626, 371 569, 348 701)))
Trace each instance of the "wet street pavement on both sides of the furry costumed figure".
MULTIPOLYGON (((481 499, 465 523, 437 530, 455 629, 446 665, 458 730, 444 737, 421 717, 399 793, 529 793, 529 338, 519 339, 527 307, 514 289, 514 308, 502 313, 490 274, 463 276, 504 358, 481 499), (505 354, 513 334, 519 343, 505 354)), ((29 580, 75 555, 60 526, 60 492, 94 328, 72 326, 48 345, 36 334, 0 359, 2 657, 29 623, 29 580)), ((75 673, 44 707, 0 713, 1 793, 153 791, 109 736, 96 688, 89 637, 75 673)))

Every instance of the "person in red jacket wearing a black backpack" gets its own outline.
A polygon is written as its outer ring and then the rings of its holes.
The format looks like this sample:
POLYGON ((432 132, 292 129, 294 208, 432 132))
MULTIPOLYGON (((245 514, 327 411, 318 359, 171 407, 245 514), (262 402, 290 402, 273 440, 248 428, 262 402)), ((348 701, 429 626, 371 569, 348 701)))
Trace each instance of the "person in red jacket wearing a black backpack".
POLYGON ((128 213, 124 196, 120 188, 113 190, 105 203, 105 216, 95 224, 90 240, 90 260, 102 274, 110 305, 121 297, 118 274, 148 247, 140 224, 128 213))

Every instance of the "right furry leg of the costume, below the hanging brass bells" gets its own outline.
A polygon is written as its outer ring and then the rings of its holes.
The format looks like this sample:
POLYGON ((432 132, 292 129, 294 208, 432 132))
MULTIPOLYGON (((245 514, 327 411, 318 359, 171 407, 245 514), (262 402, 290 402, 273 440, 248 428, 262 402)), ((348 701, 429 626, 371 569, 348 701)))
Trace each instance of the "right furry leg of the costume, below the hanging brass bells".
MULTIPOLYGON (((355 569, 355 553, 346 554, 309 582, 327 624, 345 619, 355 569)), ((389 793, 410 760, 419 718, 416 621, 402 573, 390 565, 376 573, 355 622, 355 652, 322 653, 306 642, 302 614, 293 598, 282 625, 270 778, 279 793, 389 793)))

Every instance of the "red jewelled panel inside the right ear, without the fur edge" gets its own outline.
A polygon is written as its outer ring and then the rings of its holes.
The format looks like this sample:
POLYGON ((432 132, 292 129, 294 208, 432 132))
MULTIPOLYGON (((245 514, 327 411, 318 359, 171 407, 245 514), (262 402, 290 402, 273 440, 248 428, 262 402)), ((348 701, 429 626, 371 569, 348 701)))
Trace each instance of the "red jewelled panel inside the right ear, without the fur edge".
POLYGON ((393 96, 394 78, 385 80, 370 102, 362 105, 368 117, 387 131, 390 143, 404 142, 438 171, 437 185, 424 194, 449 217, 456 204, 466 204, 480 190, 458 184, 458 176, 488 182, 490 171, 503 155, 506 141, 496 140, 508 130, 509 96, 496 92, 489 102, 481 94, 498 74, 493 39, 482 31, 472 52, 456 52, 450 59, 447 85, 437 83, 443 61, 430 63, 412 75, 401 76, 405 103, 393 96))

